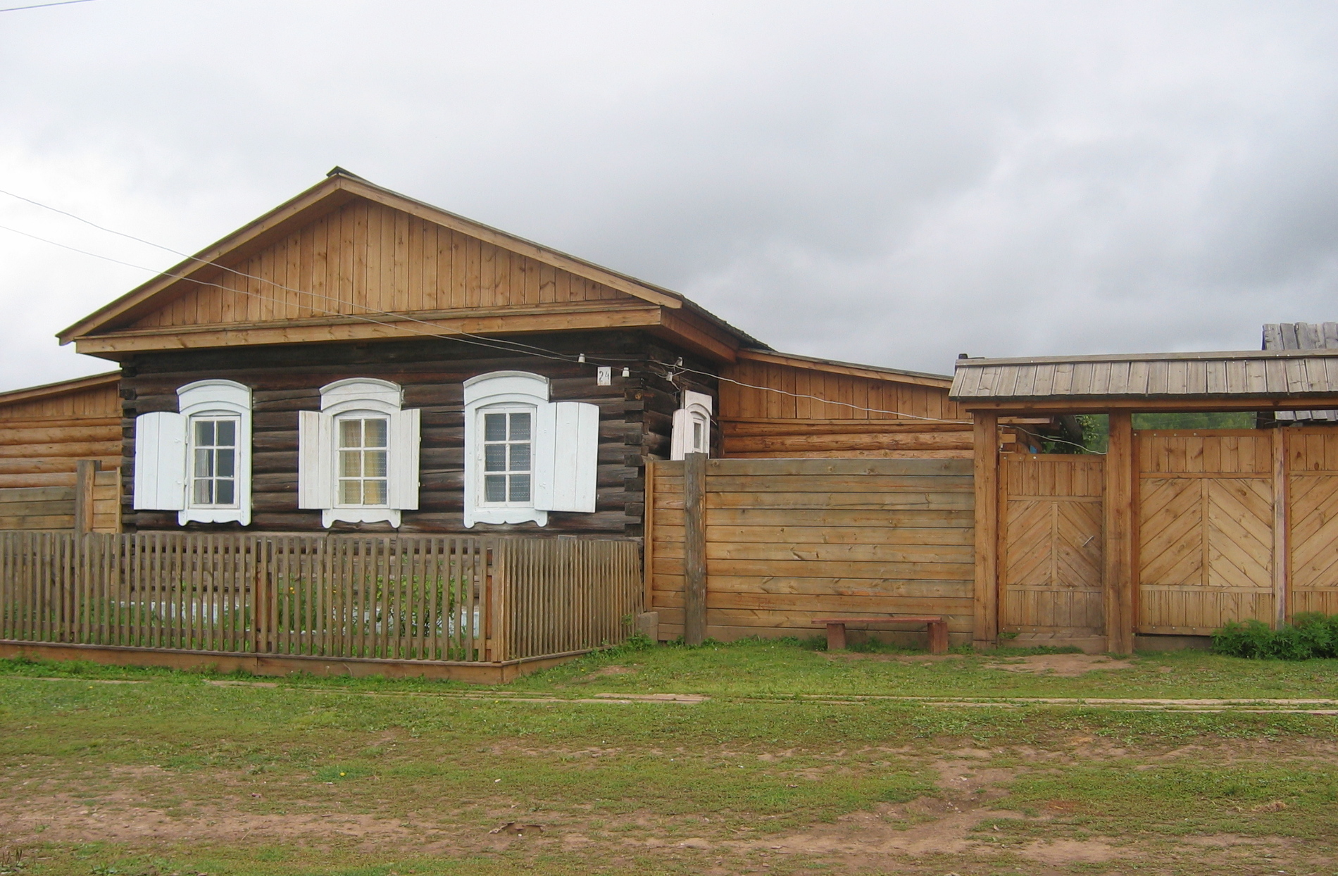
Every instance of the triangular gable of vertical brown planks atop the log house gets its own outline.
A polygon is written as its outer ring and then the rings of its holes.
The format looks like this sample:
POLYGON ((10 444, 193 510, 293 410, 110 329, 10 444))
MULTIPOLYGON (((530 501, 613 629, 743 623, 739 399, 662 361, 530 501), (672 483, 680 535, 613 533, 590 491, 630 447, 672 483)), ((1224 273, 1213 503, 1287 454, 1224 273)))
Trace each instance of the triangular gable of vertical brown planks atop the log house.
POLYGON ((365 313, 619 304, 680 309, 685 301, 336 169, 59 338, 365 313))

